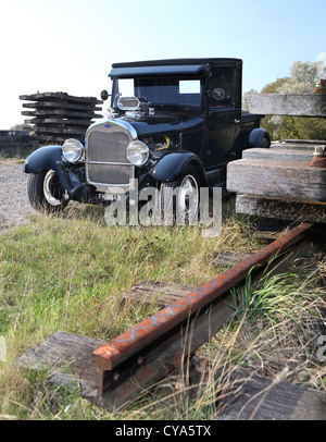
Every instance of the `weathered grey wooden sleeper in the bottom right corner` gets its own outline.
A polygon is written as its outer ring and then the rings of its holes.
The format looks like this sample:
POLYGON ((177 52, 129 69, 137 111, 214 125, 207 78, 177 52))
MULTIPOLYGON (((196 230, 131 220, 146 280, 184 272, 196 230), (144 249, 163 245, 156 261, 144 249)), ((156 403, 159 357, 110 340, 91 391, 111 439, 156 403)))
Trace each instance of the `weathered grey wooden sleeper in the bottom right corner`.
POLYGON ((326 394, 317 390, 239 372, 228 384, 221 420, 326 420, 326 394))

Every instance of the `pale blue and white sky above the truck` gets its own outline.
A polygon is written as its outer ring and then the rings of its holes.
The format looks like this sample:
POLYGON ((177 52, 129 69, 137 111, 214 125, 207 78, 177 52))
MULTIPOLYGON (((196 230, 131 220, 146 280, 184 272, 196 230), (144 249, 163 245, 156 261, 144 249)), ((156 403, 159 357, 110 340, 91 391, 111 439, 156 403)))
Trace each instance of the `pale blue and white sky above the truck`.
MULTIPOLYGON (((326 62, 325 0, 0 0, 0 128, 22 123, 20 95, 97 96, 120 61, 243 60, 243 91, 326 62)), ((26 118, 25 118, 26 119, 26 118)))

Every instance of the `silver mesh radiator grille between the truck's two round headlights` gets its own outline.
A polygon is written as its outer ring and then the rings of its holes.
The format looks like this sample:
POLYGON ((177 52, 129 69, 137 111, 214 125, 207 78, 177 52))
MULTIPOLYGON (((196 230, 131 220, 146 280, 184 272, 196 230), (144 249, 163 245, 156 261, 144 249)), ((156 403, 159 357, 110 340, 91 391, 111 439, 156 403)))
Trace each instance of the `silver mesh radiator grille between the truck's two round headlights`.
POLYGON ((130 133, 120 126, 96 126, 88 134, 86 177, 99 192, 129 185, 134 165, 127 159, 127 146, 131 139, 130 133))

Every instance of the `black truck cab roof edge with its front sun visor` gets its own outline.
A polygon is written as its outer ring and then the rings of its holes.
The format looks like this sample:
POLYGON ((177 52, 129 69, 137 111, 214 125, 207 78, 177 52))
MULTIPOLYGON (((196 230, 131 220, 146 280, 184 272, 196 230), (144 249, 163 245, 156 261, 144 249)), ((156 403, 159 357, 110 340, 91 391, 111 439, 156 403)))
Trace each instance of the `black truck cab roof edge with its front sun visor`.
POLYGON ((170 59, 135 61, 112 64, 111 77, 129 77, 133 75, 197 75, 206 70, 206 65, 241 64, 240 59, 170 59))

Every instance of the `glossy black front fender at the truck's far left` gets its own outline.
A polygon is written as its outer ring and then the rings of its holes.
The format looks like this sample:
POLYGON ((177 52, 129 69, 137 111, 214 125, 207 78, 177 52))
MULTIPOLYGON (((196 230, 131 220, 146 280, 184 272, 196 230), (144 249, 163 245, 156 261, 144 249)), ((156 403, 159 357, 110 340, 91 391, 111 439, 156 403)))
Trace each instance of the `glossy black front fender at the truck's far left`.
POLYGON ((54 170, 63 187, 73 197, 77 188, 82 187, 82 183, 76 181, 75 177, 72 182, 70 171, 65 167, 62 160, 62 146, 43 146, 35 150, 25 161, 25 173, 39 173, 45 170, 54 170))

